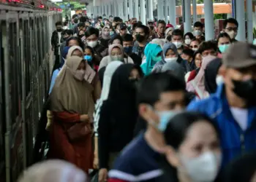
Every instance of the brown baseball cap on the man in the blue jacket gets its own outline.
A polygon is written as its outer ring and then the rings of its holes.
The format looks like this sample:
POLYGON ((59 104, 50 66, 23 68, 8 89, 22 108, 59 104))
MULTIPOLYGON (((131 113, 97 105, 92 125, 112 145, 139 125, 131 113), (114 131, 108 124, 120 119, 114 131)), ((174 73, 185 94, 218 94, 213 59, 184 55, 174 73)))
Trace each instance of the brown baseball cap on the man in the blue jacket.
POLYGON ((246 68, 256 65, 256 46, 246 42, 230 45, 223 54, 222 63, 229 68, 246 68))

